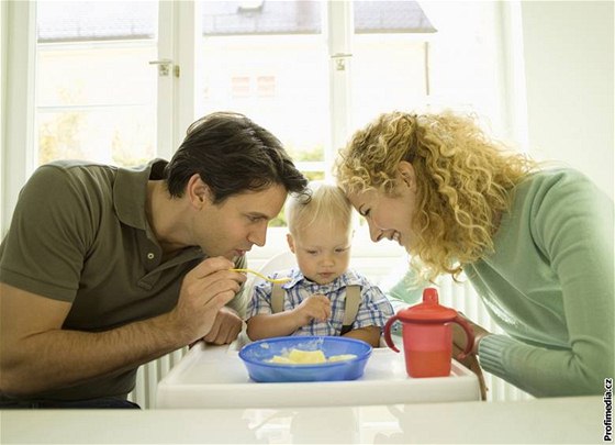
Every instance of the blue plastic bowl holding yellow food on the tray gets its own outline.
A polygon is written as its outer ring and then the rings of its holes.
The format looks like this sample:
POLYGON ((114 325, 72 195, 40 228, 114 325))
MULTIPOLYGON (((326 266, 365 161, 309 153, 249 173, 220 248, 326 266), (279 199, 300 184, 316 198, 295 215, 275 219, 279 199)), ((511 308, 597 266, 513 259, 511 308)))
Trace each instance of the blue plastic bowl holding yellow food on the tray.
POLYGON ((364 375, 371 346, 360 340, 335 336, 289 336, 260 340, 245 345, 239 357, 254 381, 338 381, 356 380, 364 375), (327 361, 314 365, 268 363, 276 355, 291 349, 322 351, 325 357, 354 354, 349 360, 327 361))

